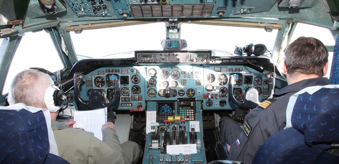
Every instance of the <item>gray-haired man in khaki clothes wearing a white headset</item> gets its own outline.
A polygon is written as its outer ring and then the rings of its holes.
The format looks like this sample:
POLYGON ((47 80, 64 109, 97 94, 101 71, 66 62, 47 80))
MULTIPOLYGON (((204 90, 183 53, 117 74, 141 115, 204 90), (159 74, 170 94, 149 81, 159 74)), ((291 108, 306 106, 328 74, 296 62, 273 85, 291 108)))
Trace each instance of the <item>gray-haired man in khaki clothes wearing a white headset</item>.
POLYGON ((127 141, 120 144, 115 125, 102 125, 102 141, 94 134, 80 128, 69 128, 68 123, 56 121, 60 107, 53 107, 53 93, 57 89, 51 77, 40 70, 27 69, 12 80, 8 103, 24 103, 27 106, 49 109, 51 126, 61 158, 71 164, 136 164, 143 156, 141 146, 127 141))

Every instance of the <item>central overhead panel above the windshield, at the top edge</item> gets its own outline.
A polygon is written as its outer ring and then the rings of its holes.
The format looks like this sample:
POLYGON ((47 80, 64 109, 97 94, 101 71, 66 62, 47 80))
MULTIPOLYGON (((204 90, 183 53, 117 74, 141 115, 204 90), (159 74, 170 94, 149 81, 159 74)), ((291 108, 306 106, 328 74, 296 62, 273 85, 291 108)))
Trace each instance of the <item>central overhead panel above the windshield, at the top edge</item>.
POLYGON ((110 0, 117 17, 228 17, 231 0, 110 0), (127 4, 127 8, 125 5, 127 4))

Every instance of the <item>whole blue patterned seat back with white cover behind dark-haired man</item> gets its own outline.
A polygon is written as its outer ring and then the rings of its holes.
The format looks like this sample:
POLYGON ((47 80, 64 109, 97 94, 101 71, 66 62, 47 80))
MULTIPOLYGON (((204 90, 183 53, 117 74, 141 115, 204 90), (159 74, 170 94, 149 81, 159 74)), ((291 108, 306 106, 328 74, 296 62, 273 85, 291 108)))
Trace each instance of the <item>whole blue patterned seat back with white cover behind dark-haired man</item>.
POLYGON ((328 152, 332 143, 339 142, 339 88, 314 88, 296 93, 292 127, 272 135, 252 164, 339 163, 339 156, 328 152))

